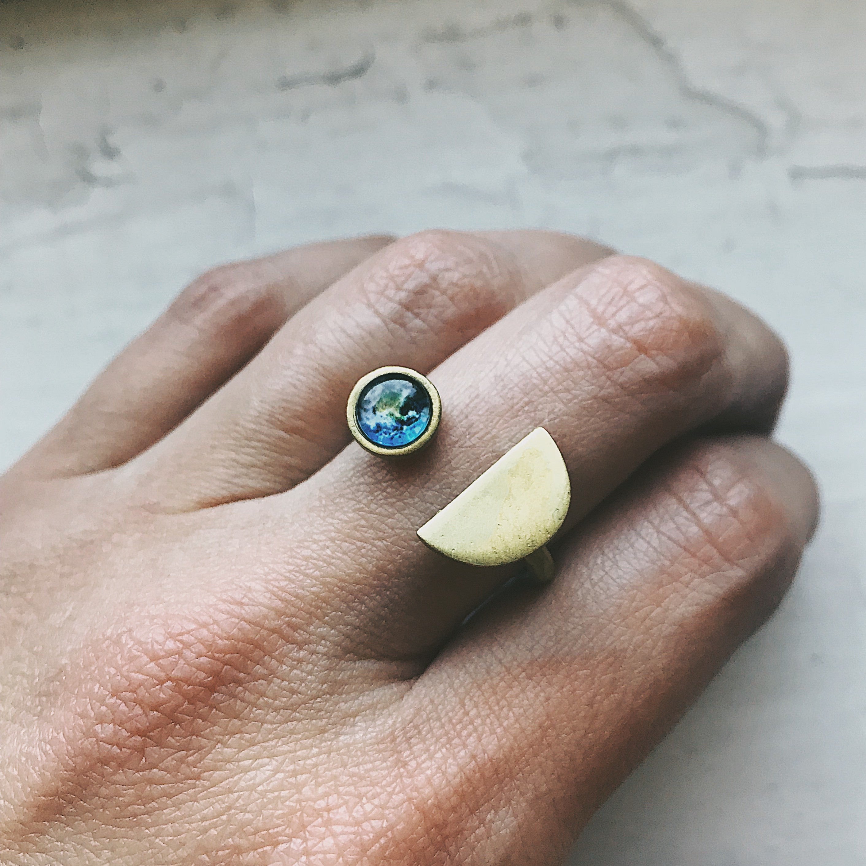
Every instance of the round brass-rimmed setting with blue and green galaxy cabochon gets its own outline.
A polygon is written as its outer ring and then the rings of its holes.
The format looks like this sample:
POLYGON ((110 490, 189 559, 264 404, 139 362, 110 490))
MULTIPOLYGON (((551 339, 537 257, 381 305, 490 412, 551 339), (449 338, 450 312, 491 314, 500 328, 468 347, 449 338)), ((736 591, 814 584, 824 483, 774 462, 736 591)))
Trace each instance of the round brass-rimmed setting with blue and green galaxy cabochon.
POLYGON ((436 435, 442 400, 426 376, 408 367, 379 367, 352 388, 346 421, 362 448, 397 457, 420 450, 436 435))

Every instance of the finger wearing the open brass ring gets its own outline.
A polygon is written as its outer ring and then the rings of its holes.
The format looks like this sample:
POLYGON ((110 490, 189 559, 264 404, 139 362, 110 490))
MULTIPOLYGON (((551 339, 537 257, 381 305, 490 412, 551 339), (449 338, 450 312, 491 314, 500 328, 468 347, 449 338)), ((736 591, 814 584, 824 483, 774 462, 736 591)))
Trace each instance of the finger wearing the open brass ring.
POLYGON ((321 616, 343 617, 374 656, 435 651, 513 572, 458 565, 416 531, 531 430, 545 427, 565 458, 567 531, 689 430, 765 427, 786 356, 734 301, 611 257, 527 301, 431 377, 443 422, 429 449, 388 462, 352 446, 297 495, 249 509, 249 532, 264 533, 281 580, 309 578, 321 616), (311 572, 302 558, 316 549, 329 562, 311 572))

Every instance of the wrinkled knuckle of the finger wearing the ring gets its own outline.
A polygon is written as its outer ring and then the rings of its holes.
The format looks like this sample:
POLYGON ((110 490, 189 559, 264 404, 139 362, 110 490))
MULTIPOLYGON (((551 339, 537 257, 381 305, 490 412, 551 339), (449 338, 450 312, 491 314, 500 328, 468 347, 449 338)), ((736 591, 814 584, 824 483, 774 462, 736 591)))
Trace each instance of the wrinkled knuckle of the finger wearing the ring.
POLYGON ((580 294, 604 367, 626 391, 691 396, 723 359, 707 302, 654 262, 611 256, 580 294))

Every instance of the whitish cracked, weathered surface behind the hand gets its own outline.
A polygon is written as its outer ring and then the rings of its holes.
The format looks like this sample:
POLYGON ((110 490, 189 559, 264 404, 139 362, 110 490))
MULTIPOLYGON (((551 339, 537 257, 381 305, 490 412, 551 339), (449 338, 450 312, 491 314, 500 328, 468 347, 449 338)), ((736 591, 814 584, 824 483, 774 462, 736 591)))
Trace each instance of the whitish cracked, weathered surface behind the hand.
POLYGON ((5 0, 0 465, 193 275, 308 239, 546 226, 792 347, 824 524, 779 614, 573 866, 866 863, 866 3, 5 0))

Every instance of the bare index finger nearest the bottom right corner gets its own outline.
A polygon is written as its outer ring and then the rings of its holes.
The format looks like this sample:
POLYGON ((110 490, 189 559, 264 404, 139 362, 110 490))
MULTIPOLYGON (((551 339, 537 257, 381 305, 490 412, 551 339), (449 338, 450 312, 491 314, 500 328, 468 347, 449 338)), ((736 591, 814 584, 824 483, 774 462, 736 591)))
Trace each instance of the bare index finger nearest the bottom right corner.
POLYGON ((559 546, 553 585, 482 611, 398 708, 423 830, 455 861, 559 862, 778 604, 817 512, 808 471, 758 437, 630 481, 559 546))

